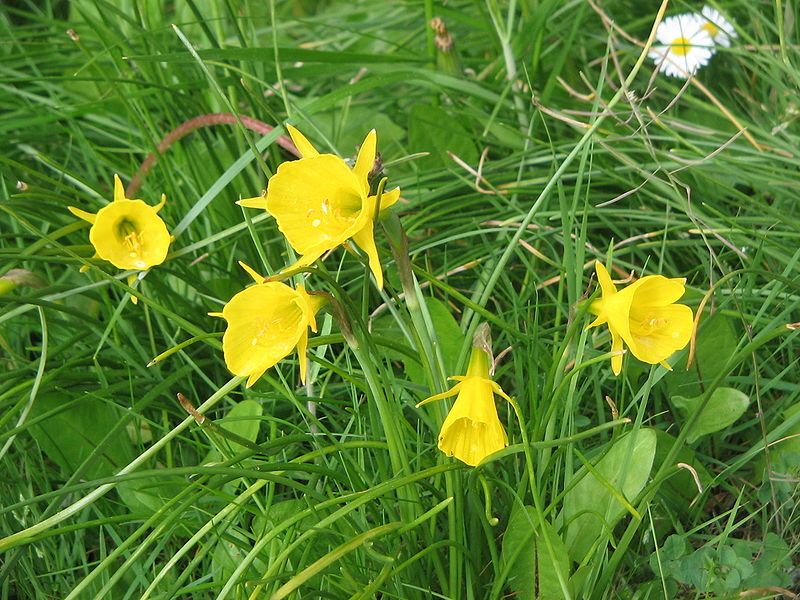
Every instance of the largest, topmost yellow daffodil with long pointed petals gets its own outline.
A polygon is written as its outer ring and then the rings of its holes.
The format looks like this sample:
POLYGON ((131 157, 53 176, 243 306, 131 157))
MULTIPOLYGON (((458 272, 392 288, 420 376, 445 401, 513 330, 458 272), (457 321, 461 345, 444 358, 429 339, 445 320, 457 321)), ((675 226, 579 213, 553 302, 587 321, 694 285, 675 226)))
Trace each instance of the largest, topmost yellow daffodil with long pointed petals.
MULTIPOLYGON (((369 195, 368 176, 375 164, 377 134, 367 134, 352 168, 338 156, 320 154, 291 125, 286 126, 299 160, 278 167, 265 196, 240 200, 248 208, 266 209, 300 259, 286 270, 308 266, 328 250, 352 239, 364 251, 379 288, 383 274, 375 247, 376 198, 369 195)), ((381 196, 379 211, 400 198, 400 188, 381 196)))

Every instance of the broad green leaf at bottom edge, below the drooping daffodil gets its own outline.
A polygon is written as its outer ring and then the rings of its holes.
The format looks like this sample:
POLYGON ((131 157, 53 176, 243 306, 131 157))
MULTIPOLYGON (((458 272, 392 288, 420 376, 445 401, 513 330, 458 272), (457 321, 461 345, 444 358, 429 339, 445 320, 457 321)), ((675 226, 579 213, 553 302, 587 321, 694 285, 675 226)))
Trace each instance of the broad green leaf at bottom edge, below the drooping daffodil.
POLYGON ((565 582, 569 581, 569 554, 555 529, 546 524, 555 555, 551 556, 541 532, 536 530, 537 526, 534 507, 526 506, 523 510, 514 505, 503 535, 502 564, 510 569, 506 582, 515 598, 559 600, 564 593, 558 573, 565 582))

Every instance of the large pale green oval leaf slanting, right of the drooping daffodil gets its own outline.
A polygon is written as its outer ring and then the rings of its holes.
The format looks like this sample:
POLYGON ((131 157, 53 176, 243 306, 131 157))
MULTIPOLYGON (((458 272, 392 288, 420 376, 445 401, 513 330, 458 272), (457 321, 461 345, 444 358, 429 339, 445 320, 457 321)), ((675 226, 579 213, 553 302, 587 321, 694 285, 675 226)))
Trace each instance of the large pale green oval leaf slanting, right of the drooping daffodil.
POLYGON ((647 483, 655 454, 655 431, 640 429, 616 440, 593 465, 594 473, 585 466, 578 470, 575 478, 581 479, 564 496, 561 512, 567 549, 574 561, 581 562, 597 541, 609 538, 626 513, 618 496, 627 502, 635 500, 647 483))

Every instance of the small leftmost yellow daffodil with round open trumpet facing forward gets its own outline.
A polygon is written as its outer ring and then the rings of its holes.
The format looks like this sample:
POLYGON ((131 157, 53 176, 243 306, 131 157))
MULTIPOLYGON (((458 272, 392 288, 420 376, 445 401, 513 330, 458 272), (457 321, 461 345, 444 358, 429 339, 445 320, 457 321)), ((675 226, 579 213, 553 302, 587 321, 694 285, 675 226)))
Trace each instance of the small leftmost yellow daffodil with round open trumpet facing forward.
POLYGON ((95 256, 107 260, 118 269, 143 271, 160 265, 167 257, 172 241, 158 211, 166 196, 156 206, 125 197, 118 175, 114 175, 114 201, 97 214, 68 206, 76 217, 92 224, 89 241, 95 256))

